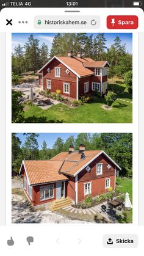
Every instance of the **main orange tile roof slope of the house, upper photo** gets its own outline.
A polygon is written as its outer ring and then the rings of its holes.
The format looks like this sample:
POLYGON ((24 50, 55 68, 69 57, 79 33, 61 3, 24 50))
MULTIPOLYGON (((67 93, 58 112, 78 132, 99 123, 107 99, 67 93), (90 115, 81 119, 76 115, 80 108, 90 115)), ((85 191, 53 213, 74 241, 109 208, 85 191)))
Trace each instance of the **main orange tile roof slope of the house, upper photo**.
POLYGON ((93 61, 90 58, 80 58, 80 57, 62 57, 57 56, 65 65, 70 67, 79 76, 90 76, 93 75, 93 71, 84 67, 84 62, 93 61))

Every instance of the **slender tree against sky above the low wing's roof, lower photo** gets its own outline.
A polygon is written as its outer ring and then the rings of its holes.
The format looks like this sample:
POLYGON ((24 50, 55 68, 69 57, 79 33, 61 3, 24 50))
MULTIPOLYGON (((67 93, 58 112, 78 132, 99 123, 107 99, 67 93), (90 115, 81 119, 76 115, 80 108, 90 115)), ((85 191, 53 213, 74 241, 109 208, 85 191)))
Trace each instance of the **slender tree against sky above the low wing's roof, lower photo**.
POLYGON ((26 141, 24 142, 23 149, 26 150, 27 158, 34 160, 38 158, 38 142, 37 133, 27 133, 26 141))

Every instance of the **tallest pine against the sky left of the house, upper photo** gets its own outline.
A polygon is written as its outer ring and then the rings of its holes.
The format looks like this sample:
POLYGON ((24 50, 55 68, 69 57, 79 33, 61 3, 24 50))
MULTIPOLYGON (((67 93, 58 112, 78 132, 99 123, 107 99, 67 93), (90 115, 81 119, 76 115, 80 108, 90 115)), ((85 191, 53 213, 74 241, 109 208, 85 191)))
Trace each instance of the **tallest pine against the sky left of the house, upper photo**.
POLYGON ((35 74, 41 65, 39 40, 34 38, 34 35, 31 34, 25 43, 24 48, 27 71, 33 71, 35 74))

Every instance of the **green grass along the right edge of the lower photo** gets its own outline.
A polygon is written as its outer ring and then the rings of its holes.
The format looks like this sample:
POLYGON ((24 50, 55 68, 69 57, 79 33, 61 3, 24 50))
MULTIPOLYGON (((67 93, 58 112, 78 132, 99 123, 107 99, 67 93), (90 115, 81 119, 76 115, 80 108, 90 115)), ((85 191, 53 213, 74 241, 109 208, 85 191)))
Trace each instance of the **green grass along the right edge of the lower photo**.
MULTIPOLYGON (((128 192, 132 203, 132 178, 118 177, 118 182, 120 182, 120 185, 116 186, 116 190, 123 192, 124 194, 128 192)), ((132 223, 132 209, 130 211, 124 211, 124 213, 126 214, 126 220, 120 220, 120 223, 132 223)))

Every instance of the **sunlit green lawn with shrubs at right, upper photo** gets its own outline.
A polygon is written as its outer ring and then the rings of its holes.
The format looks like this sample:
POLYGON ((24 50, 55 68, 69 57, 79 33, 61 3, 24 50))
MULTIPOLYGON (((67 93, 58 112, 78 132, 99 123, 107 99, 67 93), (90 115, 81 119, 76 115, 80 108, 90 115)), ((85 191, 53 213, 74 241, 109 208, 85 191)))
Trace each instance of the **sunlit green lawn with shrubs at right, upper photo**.
POLYGON ((101 108, 106 104, 104 98, 95 97, 91 103, 85 103, 78 108, 70 108, 60 103, 43 110, 38 106, 28 106, 24 112, 26 123, 131 123, 132 94, 126 92, 123 84, 109 84, 109 90, 117 93, 117 100, 112 103, 112 110, 101 108), (119 99, 125 101, 121 101, 119 99), (126 102, 129 101, 129 102, 126 102))

